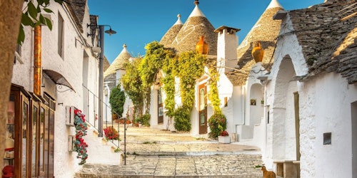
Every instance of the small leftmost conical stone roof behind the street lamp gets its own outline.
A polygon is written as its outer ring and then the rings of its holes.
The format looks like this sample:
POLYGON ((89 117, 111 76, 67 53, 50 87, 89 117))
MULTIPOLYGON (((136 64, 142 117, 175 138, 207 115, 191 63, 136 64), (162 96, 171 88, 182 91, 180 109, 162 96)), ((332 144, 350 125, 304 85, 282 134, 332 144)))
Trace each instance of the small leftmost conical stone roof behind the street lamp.
POLYGON ((129 58, 131 58, 131 55, 128 50, 126 50, 126 45, 124 44, 121 53, 119 53, 113 63, 111 63, 111 66, 109 66, 109 68, 106 69, 106 71, 104 72, 104 78, 108 75, 116 73, 116 70, 124 69, 124 63, 126 63, 126 61, 129 61, 129 58))

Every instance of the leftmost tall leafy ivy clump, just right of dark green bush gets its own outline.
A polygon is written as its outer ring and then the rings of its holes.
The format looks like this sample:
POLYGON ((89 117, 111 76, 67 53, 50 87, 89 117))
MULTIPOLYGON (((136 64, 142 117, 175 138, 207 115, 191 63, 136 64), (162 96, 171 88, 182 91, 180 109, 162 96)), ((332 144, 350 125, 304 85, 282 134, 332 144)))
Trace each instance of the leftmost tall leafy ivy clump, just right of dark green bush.
POLYGON ((141 111, 144 106, 143 91, 141 90, 141 78, 138 70, 140 59, 128 62, 124 65, 126 69, 126 74, 122 76, 121 83, 125 93, 129 95, 129 98, 134 104, 134 113, 136 115, 141 115, 141 111))

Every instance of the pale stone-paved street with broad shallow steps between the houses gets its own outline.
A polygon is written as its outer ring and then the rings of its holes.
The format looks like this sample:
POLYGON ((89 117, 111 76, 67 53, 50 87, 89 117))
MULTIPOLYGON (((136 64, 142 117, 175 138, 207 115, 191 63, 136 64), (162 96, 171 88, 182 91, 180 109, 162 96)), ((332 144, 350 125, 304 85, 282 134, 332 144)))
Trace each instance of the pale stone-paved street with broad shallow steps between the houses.
MULTIPOLYGON (((121 136, 123 131, 119 129, 121 136)), ((258 147, 221 144, 188 133, 129 127, 125 150, 126 165, 85 164, 76 177, 262 177, 253 168, 262 164, 258 147)))

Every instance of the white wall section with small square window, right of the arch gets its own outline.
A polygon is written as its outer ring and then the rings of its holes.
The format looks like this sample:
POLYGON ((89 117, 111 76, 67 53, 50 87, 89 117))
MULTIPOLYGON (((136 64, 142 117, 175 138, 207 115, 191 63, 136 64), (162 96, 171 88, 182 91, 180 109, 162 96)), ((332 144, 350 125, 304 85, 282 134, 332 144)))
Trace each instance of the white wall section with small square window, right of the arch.
POLYGON ((301 112, 301 162, 306 163, 301 164, 301 177, 353 177, 351 103, 357 100, 356 85, 328 73, 304 82, 301 93, 301 110, 310 108, 301 112), (331 145, 323 145, 326 132, 331 132, 331 145))

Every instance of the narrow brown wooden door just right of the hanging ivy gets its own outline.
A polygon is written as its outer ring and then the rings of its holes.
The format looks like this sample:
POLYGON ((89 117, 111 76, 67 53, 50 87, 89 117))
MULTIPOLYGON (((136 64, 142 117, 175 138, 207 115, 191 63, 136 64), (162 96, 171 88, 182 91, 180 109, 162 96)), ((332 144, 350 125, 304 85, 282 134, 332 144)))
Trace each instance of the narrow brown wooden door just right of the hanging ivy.
POLYGON ((198 125, 199 134, 207 133, 207 88, 205 84, 198 86, 198 125))

